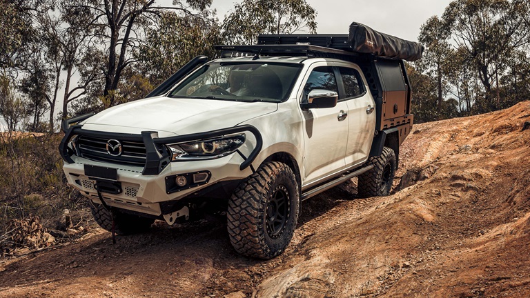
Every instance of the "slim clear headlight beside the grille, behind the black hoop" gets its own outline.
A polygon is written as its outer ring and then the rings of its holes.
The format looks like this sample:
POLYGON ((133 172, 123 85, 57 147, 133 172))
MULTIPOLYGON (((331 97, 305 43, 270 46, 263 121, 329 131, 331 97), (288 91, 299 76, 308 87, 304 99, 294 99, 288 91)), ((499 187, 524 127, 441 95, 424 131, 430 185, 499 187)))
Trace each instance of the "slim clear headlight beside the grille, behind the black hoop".
POLYGON ((204 141, 168 145, 173 153, 171 161, 186 159, 212 159, 229 155, 245 142, 245 135, 220 137, 204 141))

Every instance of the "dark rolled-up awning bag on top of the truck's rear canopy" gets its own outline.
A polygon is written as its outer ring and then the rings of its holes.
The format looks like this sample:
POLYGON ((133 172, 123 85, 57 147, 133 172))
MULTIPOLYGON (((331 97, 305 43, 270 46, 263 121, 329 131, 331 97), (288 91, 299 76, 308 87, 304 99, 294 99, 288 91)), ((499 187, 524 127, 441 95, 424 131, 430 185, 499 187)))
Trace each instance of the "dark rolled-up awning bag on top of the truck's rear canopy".
POLYGON ((351 23, 348 43, 355 52, 406 61, 421 59, 423 53, 423 46, 420 43, 393 37, 355 22, 351 23))

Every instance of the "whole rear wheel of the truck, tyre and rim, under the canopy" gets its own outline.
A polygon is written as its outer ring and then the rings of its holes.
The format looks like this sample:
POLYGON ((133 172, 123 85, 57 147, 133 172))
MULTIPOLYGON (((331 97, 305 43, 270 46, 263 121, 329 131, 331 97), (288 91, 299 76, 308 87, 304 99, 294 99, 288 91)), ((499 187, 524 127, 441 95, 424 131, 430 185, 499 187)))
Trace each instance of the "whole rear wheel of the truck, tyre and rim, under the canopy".
POLYGON ((383 197, 390 193, 394 180, 396 163, 394 150, 383 147, 378 157, 370 157, 366 166, 373 165, 368 172, 359 176, 357 192, 359 197, 383 197))

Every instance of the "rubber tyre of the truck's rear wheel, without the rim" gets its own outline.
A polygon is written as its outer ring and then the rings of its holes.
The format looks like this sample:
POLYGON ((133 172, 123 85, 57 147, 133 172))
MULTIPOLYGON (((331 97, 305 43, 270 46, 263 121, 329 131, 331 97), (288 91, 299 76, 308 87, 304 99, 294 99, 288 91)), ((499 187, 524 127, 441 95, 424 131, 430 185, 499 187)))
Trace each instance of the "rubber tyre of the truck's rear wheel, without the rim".
POLYGON ((373 165, 373 168, 368 172, 359 176, 359 181, 357 183, 357 192, 359 197, 382 197, 389 195, 390 189, 388 192, 381 192, 381 183, 384 167, 386 163, 393 163, 392 178, 389 182, 392 185, 393 177, 395 175, 396 165, 395 165, 395 153, 394 150, 388 147, 383 148, 383 152, 378 157, 370 157, 366 165, 373 165))

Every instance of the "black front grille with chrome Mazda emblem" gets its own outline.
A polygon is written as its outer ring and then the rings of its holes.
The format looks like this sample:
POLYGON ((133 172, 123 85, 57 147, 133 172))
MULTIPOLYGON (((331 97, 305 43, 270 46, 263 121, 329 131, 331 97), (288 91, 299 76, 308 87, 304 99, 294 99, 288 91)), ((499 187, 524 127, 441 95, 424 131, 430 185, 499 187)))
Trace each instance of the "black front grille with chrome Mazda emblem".
MULTIPOLYGON (((86 159, 118 163, 126 166, 145 166, 146 146, 144 146, 144 143, 117 139, 121 143, 121 154, 113 156, 107 152, 107 141, 109 139, 79 136, 76 146, 81 157, 86 159)), ((115 145, 115 143, 112 144, 115 145)))

